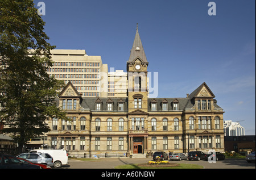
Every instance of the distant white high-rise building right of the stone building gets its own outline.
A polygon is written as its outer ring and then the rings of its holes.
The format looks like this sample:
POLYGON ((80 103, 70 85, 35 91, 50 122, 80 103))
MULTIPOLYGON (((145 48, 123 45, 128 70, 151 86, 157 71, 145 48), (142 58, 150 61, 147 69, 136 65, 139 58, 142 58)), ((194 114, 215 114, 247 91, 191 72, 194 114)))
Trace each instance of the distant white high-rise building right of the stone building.
POLYGON ((232 122, 232 120, 224 121, 225 136, 245 136, 245 128, 240 123, 232 122))

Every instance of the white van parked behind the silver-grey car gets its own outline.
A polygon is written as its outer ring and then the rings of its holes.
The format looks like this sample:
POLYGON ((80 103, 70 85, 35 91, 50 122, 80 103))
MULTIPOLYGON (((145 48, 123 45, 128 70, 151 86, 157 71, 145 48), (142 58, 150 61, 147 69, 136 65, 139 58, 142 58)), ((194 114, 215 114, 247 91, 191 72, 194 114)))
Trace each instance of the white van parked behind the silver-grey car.
POLYGON ((64 149, 34 149, 30 153, 48 153, 53 157, 53 165, 60 168, 62 165, 68 165, 68 152, 64 149))

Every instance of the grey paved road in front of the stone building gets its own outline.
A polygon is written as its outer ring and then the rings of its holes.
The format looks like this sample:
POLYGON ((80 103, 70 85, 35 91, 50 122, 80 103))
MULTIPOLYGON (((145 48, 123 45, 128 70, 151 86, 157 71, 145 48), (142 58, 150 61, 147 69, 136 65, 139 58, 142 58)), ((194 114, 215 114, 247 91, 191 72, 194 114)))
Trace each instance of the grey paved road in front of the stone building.
MULTIPOLYGON (((69 160, 69 166, 64 166, 62 169, 113 169, 118 165, 125 164, 142 164, 151 161, 152 158, 100 158, 97 161, 79 161, 69 160)), ((248 163, 243 159, 225 159, 216 163, 208 161, 170 161, 174 163, 196 164, 204 166, 204 169, 255 169, 255 162, 248 163)))

